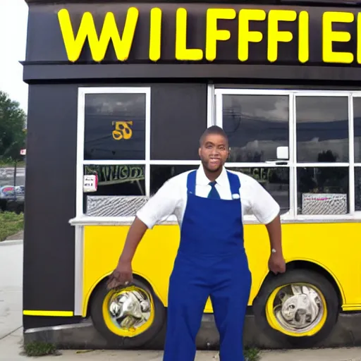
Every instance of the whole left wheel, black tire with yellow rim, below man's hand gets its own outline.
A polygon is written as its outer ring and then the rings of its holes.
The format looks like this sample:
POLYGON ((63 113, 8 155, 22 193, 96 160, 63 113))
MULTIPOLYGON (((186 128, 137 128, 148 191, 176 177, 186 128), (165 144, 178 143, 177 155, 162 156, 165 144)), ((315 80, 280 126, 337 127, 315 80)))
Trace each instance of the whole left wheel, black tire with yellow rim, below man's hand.
POLYGON ((137 279, 121 290, 107 290, 101 283, 94 290, 90 314, 106 341, 121 348, 140 348, 151 342, 166 321, 164 305, 137 279))

